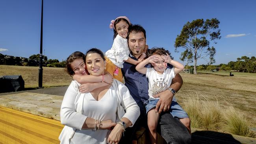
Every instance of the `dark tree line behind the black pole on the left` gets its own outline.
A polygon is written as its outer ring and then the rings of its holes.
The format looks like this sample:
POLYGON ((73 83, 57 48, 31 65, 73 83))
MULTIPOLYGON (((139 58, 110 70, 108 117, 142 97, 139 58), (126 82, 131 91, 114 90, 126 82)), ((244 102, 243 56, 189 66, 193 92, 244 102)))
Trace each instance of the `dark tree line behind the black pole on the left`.
MULTIPOLYGON (((0 65, 39 66, 39 61, 39 54, 31 55, 29 58, 0 54, 0 65)), ((59 62, 58 59, 47 59, 47 56, 43 55, 43 66, 64 67, 65 61, 59 62)))

